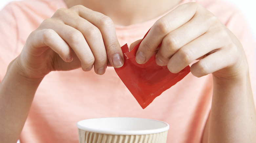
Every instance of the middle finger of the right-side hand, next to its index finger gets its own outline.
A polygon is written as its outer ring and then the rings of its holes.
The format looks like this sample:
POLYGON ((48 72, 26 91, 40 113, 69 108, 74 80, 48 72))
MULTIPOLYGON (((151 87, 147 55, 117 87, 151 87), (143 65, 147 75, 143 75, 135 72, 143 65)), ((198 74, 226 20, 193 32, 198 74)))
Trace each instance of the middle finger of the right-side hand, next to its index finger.
POLYGON ((173 56, 182 46, 203 35, 209 29, 208 22, 202 22, 202 16, 194 17, 181 27, 167 34, 156 54, 156 62, 159 66, 167 65, 173 56))

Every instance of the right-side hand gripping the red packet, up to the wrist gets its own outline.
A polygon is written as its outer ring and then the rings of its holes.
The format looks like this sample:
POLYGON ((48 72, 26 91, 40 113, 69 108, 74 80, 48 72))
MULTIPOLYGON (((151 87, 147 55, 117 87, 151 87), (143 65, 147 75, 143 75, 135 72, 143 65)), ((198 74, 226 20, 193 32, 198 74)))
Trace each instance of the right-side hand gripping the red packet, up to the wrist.
POLYGON ((160 43, 156 62, 173 73, 195 60, 199 61, 192 64, 191 73, 197 77, 213 73, 222 79, 234 78, 248 69, 239 40, 197 3, 183 4, 160 18, 142 40, 137 62, 147 62, 160 43))

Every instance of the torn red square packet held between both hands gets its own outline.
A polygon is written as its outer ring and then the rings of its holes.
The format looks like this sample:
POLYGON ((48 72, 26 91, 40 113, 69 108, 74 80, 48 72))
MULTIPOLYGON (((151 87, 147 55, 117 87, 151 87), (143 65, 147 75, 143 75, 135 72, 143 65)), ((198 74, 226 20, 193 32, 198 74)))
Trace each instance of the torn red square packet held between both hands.
POLYGON ((124 55, 124 65, 121 68, 115 68, 115 71, 139 105, 144 109, 163 91, 184 78, 190 72, 190 67, 185 67, 179 73, 171 73, 167 66, 161 67, 157 65, 156 52, 148 62, 138 64, 135 56, 139 44, 130 52, 127 44, 121 47, 124 55))

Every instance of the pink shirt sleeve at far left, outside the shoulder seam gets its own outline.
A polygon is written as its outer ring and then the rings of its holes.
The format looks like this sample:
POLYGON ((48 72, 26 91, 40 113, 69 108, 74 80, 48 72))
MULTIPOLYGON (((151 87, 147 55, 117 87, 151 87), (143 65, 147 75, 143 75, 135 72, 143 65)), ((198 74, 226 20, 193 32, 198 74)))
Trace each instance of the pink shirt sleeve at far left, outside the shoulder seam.
POLYGON ((2 81, 9 63, 16 56, 17 26, 11 3, 0 10, 0 29, 0 81, 2 81))

